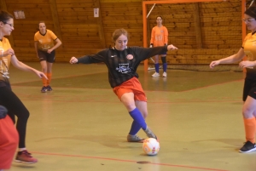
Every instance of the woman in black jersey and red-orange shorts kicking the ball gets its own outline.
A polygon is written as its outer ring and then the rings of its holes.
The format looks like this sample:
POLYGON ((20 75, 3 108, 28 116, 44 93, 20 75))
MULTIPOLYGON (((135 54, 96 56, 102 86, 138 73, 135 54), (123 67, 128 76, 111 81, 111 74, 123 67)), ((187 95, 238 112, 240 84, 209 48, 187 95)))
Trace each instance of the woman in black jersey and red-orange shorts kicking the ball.
POLYGON ((131 130, 127 135, 129 142, 142 142, 137 132, 143 128, 149 138, 157 139, 156 135, 148 128, 145 118, 148 116, 147 98, 141 83, 138 81, 137 66, 141 61, 156 54, 164 54, 168 50, 177 49, 175 46, 161 46, 154 48, 127 47, 128 32, 118 29, 113 32, 113 48, 107 48, 97 54, 85 55, 79 59, 72 57, 71 64, 91 64, 104 62, 108 67, 108 82, 113 92, 125 105, 133 118, 131 130))

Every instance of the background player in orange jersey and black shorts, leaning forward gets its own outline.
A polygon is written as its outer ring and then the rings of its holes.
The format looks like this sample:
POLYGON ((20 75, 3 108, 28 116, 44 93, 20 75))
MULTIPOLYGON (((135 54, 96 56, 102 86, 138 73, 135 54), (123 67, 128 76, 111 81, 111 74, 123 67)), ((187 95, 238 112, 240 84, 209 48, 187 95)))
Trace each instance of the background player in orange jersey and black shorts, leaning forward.
POLYGON ((55 49, 61 46, 61 40, 55 36, 53 31, 46 29, 44 21, 40 21, 38 26, 39 31, 36 32, 34 41, 42 71, 48 77, 48 80, 43 78, 41 92, 45 93, 52 90, 49 85, 52 77, 52 65, 55 61, 55 49))

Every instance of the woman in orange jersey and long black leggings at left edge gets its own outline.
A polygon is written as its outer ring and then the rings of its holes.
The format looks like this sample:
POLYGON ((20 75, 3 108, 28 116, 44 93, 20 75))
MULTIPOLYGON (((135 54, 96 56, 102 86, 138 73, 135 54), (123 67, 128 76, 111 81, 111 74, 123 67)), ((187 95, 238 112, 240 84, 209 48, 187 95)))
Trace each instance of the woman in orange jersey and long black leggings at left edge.
MULTIPOLYGON (((14 49, 11 47, 9 40, 4 36, 9 36, 14 27, 14 17, 6 11, 0 10, 0 105, 8 109, 8 115, 15 123, 17 117, 16 128, 19 133, 19 152, 15 158, 16 162, 33 163, 38 162, 31 154, 26 151, 26 123, 29 117, 29 111, 20 101, 17 95, 12 91, 9 83, 9 66, 12 64, 22 71, 30 71, 38 77, 47 77, 43 72, 35 70, 30 66, 26 66, 17 59, 14 49)), ((0 140, 2 137, 0 136, 0 140)), ((1 158, 2 156, 0 156, 1 158)))

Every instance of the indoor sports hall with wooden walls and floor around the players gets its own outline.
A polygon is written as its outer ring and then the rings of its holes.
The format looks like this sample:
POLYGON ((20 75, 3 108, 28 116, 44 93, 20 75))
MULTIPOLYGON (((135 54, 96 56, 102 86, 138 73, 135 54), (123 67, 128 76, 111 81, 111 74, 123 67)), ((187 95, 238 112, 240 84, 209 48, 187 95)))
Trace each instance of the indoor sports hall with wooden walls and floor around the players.
MULTIPOLYGON (((30 112, 26 146, 37 163, 12 162, 9 171, 254 171, 256 151, 242 116, 246 70, 239 62, 209 67, 236 54, 246 37, 246 0, 1 0, 15 16, 7 37, 17 58, 41 70, 33 36, 38 21, 54 31, 56 49, 50 86, 34 74, 9 68, 12 91, 30 112), (148 48, 155 17, 168 29, 167 77, 152 77, 154 56, 137 68, 148 100, 146 122, 160 142, 148 156, 143 143, 127 142, 132 118, 108 83, 103 63, 69 60, 113 47, 115 29, 129 32, 128 46, 148 48)), ((246 58, 245 58, 246 60, 246 58)), ((161 60, 160 60, 161 63, 161 60)), ((163 68, 160 67, 160 74, 163 68)), ((0 130, 1 131, 1 130, 0 130)), ((140 130, 138 134, 146 139, 140 130)), ((1 139, 1 137, 0 137, 1 139)), ((0 169, 1 170, 1 169, 0 169)))

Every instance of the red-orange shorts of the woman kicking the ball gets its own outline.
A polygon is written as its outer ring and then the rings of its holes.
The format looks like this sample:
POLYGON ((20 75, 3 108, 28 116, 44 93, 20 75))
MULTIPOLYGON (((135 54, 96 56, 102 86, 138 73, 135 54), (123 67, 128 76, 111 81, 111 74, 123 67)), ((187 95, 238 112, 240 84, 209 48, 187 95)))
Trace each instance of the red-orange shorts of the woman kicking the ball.
POLYGON ((138 81, 137 77, 132 77, 125 83, 113 88, 113 93, 119 97, 119 100, 121 100, 123 94, 131 92, 134 94, 134 100, 147 101, 142 84, 138 81))

